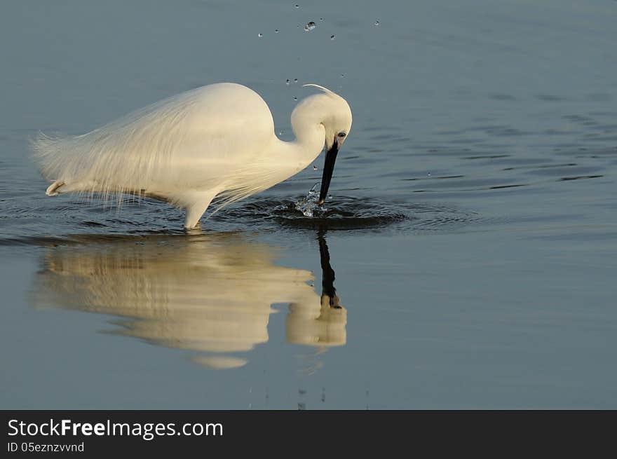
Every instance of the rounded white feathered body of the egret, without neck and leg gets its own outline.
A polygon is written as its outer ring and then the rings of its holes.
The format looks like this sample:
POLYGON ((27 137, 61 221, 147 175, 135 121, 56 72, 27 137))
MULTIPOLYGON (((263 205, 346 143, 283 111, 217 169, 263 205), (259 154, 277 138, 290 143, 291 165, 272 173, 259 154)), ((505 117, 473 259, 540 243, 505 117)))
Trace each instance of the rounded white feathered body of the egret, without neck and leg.
POLYGON ((262 97, 219 83, 187 91, 74 137, 40 134, 41 172, 89 193, 224 189, 233 170, 267 149, 273 120, 262 97))

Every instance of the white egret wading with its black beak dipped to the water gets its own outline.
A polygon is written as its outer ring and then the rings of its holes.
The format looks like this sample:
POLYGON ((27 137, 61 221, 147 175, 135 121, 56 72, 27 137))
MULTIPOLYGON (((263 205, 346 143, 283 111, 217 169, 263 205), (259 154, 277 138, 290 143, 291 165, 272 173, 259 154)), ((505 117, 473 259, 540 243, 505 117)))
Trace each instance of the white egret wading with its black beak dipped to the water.
MULTIPOLYGON (((76 137, 39 135, 33 142, 46 194, 130 193, 186 209, 186 228, 198 226, 212 200, 217 209, 264 191, 326 156, 319 202, 332 179, 351 109, 339 95, 321 93, 292 111, 296 137, 283 142, 255 91, 216 83, 156 102, 76 137)), ((215 212, 216 212, 215 210, 215 212)))

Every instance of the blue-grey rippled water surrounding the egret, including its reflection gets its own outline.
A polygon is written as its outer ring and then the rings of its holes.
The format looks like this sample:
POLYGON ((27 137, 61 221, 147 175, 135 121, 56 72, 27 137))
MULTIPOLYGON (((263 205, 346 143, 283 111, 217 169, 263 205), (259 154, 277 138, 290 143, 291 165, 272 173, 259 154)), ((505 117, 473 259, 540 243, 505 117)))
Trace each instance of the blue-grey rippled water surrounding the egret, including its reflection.
POLYGON ((617 408, 617 2, 0 9, 2 408, 617 408), (202 235, 45 196, 37 130, 217 81, 346 97, 328 221, 322 158, 202 235))

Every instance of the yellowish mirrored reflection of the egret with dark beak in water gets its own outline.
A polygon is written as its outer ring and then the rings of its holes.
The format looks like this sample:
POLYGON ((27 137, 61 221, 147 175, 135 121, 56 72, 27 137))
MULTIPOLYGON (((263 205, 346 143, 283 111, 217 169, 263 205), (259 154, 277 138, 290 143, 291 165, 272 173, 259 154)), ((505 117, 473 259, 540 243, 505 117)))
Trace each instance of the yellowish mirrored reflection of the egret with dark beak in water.
POLYGON ((242 366, 268 341, 271 305, 289 303, 287 341, 318 348, 346 343, 323 234, 323 291, 307 270, 276 266, 277 249, 237 234, 82 237, 49 247, 35 286, 37 306, 120 316, 113 334, 198 351, 194 361, 242 366))

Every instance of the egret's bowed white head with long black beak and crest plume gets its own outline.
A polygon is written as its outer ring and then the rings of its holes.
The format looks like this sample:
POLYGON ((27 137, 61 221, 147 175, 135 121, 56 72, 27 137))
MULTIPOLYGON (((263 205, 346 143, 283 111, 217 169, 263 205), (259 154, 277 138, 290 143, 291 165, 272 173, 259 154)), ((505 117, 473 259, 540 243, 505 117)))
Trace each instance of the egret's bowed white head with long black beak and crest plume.
POLYGON ((310 116, 318 117, 317 122, 323 126, 325 131, 325 164, 319 193, 319 204, 321 205, 325 201, 327 191, 330 188, 337 153, 351 130, 351 109, 343 97, 332 93, 331 90, 323 86, 314 84, 304 86, 313 86, 323 91, 321 94, 306 97, 292 113, 292 125, 295 125, 294 115, 300 118, 304 117, 304 114, 311 114, 310 116))

